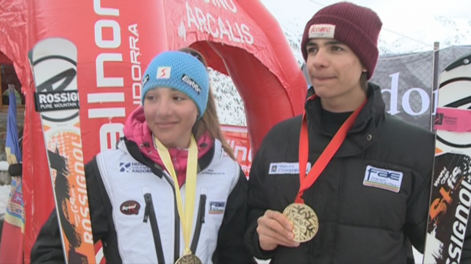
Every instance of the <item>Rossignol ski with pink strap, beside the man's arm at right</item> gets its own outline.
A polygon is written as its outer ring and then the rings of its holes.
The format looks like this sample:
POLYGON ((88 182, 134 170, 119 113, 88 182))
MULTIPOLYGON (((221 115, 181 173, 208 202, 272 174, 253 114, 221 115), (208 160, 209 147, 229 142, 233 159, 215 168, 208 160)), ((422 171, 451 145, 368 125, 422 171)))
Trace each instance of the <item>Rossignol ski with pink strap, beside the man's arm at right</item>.
POLYGON ((440 75, 423 263, 459 263, 471 207, 471 54, 440 75))

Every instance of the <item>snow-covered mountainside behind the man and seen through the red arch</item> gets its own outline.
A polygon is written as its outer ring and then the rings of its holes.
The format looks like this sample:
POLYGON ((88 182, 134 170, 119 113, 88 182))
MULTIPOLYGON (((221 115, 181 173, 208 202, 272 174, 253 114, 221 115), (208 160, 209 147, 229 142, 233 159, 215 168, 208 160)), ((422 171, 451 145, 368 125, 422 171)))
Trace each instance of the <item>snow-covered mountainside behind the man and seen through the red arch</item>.
MULTIPOLYGON (((300 52, 302 31, 309 18, 286 14, 276 16, 276 19, 301 65, 304 62, 300 52)), ((383 27, 378 41, 380 56, 430 51, 435 41, 439 41, 440 48, 471 45, 471 20, 435 16, 422 22, 425 27, 415 27, 415 30, 406 28, 400 32, 383 27)), ((220 123, 245 126, 244 104, 231 78, 216 71, 211 71, 210 76, 220 123)))

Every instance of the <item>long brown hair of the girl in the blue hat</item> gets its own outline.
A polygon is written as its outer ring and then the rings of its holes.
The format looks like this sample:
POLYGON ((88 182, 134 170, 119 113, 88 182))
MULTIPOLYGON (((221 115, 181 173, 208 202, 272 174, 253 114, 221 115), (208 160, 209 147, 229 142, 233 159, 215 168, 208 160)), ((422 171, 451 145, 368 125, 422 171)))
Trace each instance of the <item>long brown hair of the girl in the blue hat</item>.
MULTIPOLYGON (((197 50, 192 49, 190 47, 184 47, 179 49, 179 51, 195 56, 200 62, 204 64, 206 69, 208 68, 208 63, 204 59, 203 55, 197 50)), ((224 134, 221 131, 218 112, 216 110, 216 102, 212 93, 211 84, 209 87, 208 104, 206 105, 206 111, 204 111, 203 116, 199 120, 196 120, 196 123, 193 125, 193 134, 195 135, 196 139, 199 139, 204 134, 204 132, 209 132, 212 139, 218 139, 219 141, 221 141, 222 148, 224 149, 224 151, 233 160, 235 160, 234 151, 229 146, 229 144, 227 144, 227 141, 224 138, 224 134)))

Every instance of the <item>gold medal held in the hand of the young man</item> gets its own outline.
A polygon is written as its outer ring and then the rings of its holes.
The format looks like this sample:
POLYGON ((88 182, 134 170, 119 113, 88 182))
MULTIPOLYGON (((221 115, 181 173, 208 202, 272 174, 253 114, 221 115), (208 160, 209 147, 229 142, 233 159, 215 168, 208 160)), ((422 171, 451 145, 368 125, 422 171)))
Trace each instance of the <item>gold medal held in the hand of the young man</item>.
POLYGON ((302 243, 316 236, 319 220, 316 212, 305 203, 292 203, 286 206, 283 215, 293 225, 294 241, 302 243))

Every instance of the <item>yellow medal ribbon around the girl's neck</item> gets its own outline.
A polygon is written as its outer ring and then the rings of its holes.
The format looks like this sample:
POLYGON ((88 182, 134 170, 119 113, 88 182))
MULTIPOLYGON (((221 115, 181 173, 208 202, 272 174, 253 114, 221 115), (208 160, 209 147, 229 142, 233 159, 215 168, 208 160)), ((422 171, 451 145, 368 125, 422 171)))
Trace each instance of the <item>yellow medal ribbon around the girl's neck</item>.
POLYGON ((183 212, 183 200, 181 198, 180 187, 177 179, 177 173, 173 168, 169 150, 154 137, 157 152, 162 159, 165 168, 172 176, 175 184, 175 196, 177 198, 177 209, 180 216, 181 226, 183 229, 183 240, 185 242, 185 251, 183 255, 192 254, 190 250, 191 229, 193 227, 193 213, 195 211, 195 195, 196 195, 196 170, 198 164, 198 147, 193 134, 191 135, 190 147, 188 148, 187 158, 187 179, 186 179, 186 196, 185 196, 185 212, 183 212))

